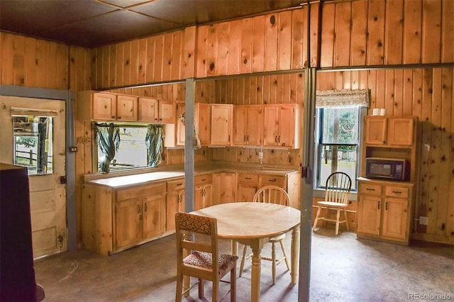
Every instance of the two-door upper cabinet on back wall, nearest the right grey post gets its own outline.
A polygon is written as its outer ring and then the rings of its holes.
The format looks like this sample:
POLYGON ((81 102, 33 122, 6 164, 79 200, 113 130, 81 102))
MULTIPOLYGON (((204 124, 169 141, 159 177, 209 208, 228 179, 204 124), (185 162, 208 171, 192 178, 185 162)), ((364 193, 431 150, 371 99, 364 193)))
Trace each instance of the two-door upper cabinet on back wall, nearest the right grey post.
POLYGON ((268 147, 301 146, 301 106, 265 105, 263 145, 268 147))

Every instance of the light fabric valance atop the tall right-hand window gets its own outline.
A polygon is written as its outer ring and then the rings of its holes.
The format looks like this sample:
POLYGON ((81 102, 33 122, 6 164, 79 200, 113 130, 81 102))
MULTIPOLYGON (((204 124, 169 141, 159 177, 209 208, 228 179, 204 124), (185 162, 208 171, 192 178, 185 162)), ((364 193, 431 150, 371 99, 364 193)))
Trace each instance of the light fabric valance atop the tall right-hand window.
POLYGON ((370 90, 316 91, 316 107, 369 107, 370 90))

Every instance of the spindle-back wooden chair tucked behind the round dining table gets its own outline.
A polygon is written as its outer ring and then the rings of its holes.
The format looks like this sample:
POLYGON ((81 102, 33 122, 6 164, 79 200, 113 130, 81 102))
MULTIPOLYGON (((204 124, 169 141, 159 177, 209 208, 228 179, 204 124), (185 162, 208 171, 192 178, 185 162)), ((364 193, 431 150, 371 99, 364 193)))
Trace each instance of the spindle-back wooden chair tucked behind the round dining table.
MULTIPOLYGON (((290 203, 289 194, 279 186, 263 186, 260 188, 253 197, 253 202, 264 202, 264 203, 277 203, 282 204, 284 206, 288 206, 290 203)), ((287 257, 287 253, 285 252, 284 247, 284 238, 285 234, 279 235, 277 237, 270 238, 271 243, 271 258, 270 257, 263 257, 262 260, 268 260, 272 262, 272 284, 276 283, 276 266, 277 264, 281 263, 285 260, 285 264, 287 264, 287 269, 290 269, 289 260, 287 257), (282 248, 283 256, 279 259, 276 259, 276 247, 275 243, 279 242, 282 248)), ((248 246, 245 245, 243 249, 243 257, 241 258, 240 264, 240 276, 243 274, 243 267, 245 259, 249 259, 252 257, 252 254, 246 256, 246 251, 248 250, 248 246)))

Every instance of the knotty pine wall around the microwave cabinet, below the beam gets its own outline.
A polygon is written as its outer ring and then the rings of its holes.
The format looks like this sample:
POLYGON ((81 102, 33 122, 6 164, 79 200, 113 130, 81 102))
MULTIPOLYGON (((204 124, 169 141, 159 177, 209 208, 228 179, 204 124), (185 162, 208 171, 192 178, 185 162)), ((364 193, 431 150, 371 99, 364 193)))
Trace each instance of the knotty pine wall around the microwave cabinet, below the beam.
MULTIPOLYGON (((319 72, 317 89, 370 89, 372 108, 419 117, 417 238, 454 243, 454 68, 319 72)), ((413 222, 412 222, 413 223, 413 222)))

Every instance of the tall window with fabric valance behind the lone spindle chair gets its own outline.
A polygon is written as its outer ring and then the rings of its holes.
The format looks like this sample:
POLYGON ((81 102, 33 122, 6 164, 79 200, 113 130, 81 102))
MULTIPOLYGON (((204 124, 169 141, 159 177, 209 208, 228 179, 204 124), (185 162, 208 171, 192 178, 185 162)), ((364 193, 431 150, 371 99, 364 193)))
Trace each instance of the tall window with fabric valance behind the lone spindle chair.
POLYGON ((368 90, 316 92, 316 187, 324 188, 333 172, 345 172, 356 191, 360 165, 361 121, 368 90))

